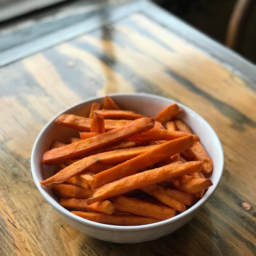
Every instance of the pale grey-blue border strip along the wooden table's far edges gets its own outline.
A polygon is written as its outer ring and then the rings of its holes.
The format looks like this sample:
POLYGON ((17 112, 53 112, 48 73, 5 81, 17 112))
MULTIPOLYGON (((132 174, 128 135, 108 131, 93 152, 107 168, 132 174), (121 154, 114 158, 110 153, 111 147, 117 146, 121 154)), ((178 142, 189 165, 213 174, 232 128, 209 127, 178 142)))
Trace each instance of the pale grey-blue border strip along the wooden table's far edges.
MULTIPOLYGON (((110 11, 108 10, 109 17, 104 20, 102 20, 100 15, 93 16, 75 25, 61 28, 58 31, 40 36, 40 38, 36 38, 25 44, 0 52, 0 67, 71 40, 84 33, 89 33, 100 28, 102 24, 110 25, 135 12, 140 12, 165 28, 170 29, 173 33, 187 40, 190 44, 208 53, 236 75, 250 82, 256 82, 256 65, 252 62, 244 59, 238 53, 216 42, 209 36, 206 36, 203 32, 193 28, 191 25, 165 11, 160 6, 146 0, 124 4, 110 11)), ((253 89, 256 89, 256 86, 253 89)))

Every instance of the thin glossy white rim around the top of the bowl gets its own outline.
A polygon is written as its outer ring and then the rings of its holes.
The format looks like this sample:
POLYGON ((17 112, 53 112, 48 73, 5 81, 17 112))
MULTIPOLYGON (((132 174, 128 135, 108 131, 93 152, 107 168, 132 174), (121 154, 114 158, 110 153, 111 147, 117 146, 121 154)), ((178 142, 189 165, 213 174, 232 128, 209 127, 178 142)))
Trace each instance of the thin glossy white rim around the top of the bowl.
MULTIPOLYGON (((162 96, 158 96, 155 94, 149 94, 149 93, 141 93, 141 92, 136 92, 136 93, 111 93, 108 94, 108 96, 140 96, 140 97, 149 97, 149 98, 156 98, 158 100, 171 100, 173 102, 175 102, 172 99, 168 99, 162 96)), ((115 232, 131 232, 131 231, 145 231, 148 229, 159 229, 159 228, 164 228, 165 226, 169 226, 172 223, 177 223, 180 222, 181 220, 185 219, 188 215, 192 214, 193 212, 197 211, 200 207, 202 207, 205 202, 210 198, 210 196, 212 196, 212 194, 214 193, 214 191, 216 190, 216 188, 218 187, 219 183, 220 183, 220 179, 222 177, 222 173, 223 173, 223 167, 224 167, 224 154, 223 154, 223 149, 220 143, 220 140, 217 136, 217 134, 214 132, 214 130, 212 129, 212 127, 210 126, 210 124, 208 124, 203 117, 201 117, 200 115, 198 115, 196 112, 194 112, 191 108, 186 107, 183 104, 178 103, 182 108, 184 109, 189 109, 190 111, 193 112, 193 114, 199 118, 202 119, 203 123, 208 127, 208 129, 212 132, 213 136, 215 138, 213 138, 215 140, 215 142, 218 144, 218 148, 220 148, 220 159, 219 159, 219 163, 220 163, 220 170, 219 170, 219 174, 217 176, 217 180, 216 182, 213 184, 212 187, 212 191, 207 195, 202 197, 196 204, 194 204, 193 206, 191 206, 188 210, 186 210, 185 212, 180 213, 177 216, 174 216, 170 219, 167 220, 162 220, 156 223, 151 223, 151 224, 146 224, 146 225, 140 225, 140 226, 117 226, 117 225, 109 225, 109 224, 103 224, 103 223, 98 223, 98 222, 94 222, 91 220, 86 220, 82 217, 79 217, 71 212, 69 212, 67 209, 65 209, 64 207, 62 207, 57 201, 55 201, 52 196, 48 195, 45 191, 44 191, 44 186, 42 186, 39 183, 39 180, 36 177, 36 172, 35 172, 35 156, 36 156, 36 147, 38 144, 39 139, 41 138, 41 136, 43 135, 44 131, 47 129, 47 127, 61 114, 65 113, 66 111, 68 111, 71 108, 74 108, 80 104, 86 103, 88 101, 91 100, 98 100, 101 98, 104 98, 105 96, 94 96, 94 97, 89 97, 86 98, 84 100, 81 100, 78 103, 73 104, 72 106, 65 108, 64 110, 62 110, 60 113, 58 113, 57 115, 55 115, 54 117, 52 117, 52 119, 47 122, 47 124, 44 125, 44 127, 42 128, 42 130, 39 132, 39 134, 36 137, 36 140, 34 142, 33 148, 32 148, 32 153, 31 153, 31 172, 32 172, 32 176, 34 179, 34 182, 36 184, 37 189, 39 190, 39 192, 42 194, 42 196, 44 197, 44 199, 52 205, 53 208, 55 208, 55 210, 57 210, 58 212, 60 212, 62 215, 66 216, 67 218, 78 222, 80 224, 83 224, 85 226, 89 226, 91 228, 97 228, 99 230, 104 230, 104 231, 115 231, 115 232)), ((129 232, 129 233, 130 233, 129 232)))

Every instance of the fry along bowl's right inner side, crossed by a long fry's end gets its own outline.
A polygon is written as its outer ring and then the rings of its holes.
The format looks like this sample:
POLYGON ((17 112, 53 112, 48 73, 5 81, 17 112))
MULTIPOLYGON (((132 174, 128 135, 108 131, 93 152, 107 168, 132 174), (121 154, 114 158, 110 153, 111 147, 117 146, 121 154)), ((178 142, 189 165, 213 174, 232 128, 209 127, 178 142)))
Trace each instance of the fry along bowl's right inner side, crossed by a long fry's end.
MULTIPOLYGON (((192 130, 190 129, 188 124, 186 124, 185 122, 181 121, 180 119, 175 119, 174 122, 177 125, 179 131, 193 134, 192 130)), ((204 173, 212 172, 212 169, 213 169, 212 159, 208 156, 204 147, 199 142, 196 142, 192 148, 189 148, 188 153, 189 155, 191 155, 193 160, 203 161, 202 172, 204 173)), ((184 158, 188 160, 186 157, 184 158)))

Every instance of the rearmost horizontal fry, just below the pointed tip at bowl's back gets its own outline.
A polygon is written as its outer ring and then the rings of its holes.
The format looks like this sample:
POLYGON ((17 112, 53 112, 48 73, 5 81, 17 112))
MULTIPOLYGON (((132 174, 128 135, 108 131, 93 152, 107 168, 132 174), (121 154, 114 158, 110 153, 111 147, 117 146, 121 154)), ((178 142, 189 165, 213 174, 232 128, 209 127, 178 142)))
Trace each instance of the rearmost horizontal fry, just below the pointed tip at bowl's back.
POLYGON ((95 110, 96 115, 103 116, 105 119, 124 119, 124 120, 135 120, 141 117, 146 117, 140 114, 137 114, 133 111, 127 110, 95 110))

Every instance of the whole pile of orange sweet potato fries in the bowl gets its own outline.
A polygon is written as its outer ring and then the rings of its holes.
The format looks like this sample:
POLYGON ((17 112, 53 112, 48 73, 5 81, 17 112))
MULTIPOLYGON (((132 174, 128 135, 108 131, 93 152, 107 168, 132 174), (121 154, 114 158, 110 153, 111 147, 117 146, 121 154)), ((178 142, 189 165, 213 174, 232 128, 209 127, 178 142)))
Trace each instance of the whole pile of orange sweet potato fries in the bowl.
POLYGON ((204 196, 213 163, 175 103, 155 117, 121 108, 108 96, 89 117, 63 114, 76 129, 70 144, 54 141, 42 164, 56 165, 41 181, 72 213, 112 225, 145 225, 172 218, 204 196))

